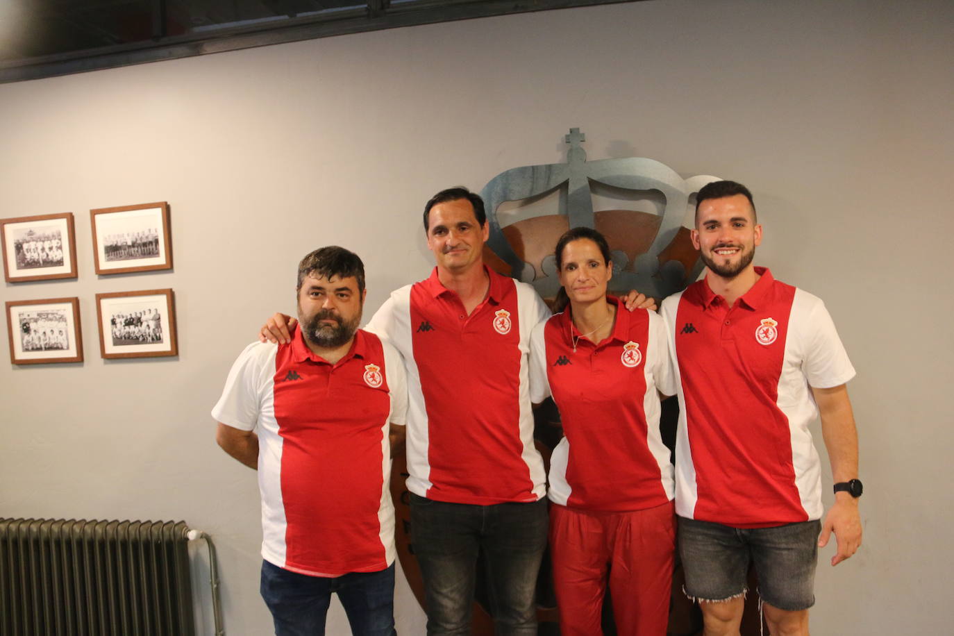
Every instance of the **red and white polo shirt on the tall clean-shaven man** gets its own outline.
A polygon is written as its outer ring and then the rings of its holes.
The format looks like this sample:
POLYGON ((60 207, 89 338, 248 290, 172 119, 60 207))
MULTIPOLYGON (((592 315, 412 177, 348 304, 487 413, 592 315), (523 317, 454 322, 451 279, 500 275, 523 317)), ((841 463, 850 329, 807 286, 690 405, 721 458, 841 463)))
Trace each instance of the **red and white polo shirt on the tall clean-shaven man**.
POLYGON ((407 370, 407 488, 449 503, 535 502, 546 492, 533 445, 529 339, 550 310, 530 285, 486 268, 467 316, 435 268, 391 294, 367 325, 407 370))

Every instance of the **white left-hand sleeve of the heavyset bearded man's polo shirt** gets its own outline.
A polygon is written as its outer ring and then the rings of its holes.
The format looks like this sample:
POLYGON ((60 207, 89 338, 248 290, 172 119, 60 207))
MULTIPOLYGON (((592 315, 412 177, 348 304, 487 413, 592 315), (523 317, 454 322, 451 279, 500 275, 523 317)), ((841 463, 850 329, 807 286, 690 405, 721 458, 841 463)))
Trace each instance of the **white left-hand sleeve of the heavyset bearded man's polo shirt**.
MULTIPOLYGON (((212 408, 212 417, 223 424, 243 431, 255 429, 259 423, 262 376, 267 374, 268 360, 275 359, 277 344, 253 342, 239 354, 225 380, 222 396, 212 408)), ((274 372, 273 363, 272 372, 274 372)))

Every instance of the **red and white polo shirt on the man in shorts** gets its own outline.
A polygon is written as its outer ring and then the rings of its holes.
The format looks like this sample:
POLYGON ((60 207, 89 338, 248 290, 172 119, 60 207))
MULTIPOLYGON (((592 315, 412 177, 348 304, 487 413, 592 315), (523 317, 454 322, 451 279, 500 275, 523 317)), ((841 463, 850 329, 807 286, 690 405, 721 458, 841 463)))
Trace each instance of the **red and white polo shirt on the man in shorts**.
POLYGON ((666 298, 679 376, 675 510, 735 527, 820 519, 810 387, 855 376, 818 297, 757 267, 734 307, 699 280, 666 298))

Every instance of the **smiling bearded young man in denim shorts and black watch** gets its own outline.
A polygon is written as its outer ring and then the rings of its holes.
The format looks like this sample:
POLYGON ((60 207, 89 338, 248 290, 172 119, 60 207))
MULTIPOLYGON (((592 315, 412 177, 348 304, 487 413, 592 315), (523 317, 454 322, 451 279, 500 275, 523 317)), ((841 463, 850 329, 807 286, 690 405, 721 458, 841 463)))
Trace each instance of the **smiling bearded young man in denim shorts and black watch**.
POLYGON ((855 375, 824 304, 752 264, 762 228, 734 181, 696 197, 692 239, 706 277, 666 298, 679 381, 675 511, 686 593, 706 636, 737 635, 755 564, 774 636, 808 634, 818 548, 861 544, 858 436, 845 382, 855 375), (821 517, 821 416, 835 503, 821 517), (820 532, 820 538, 819 538, 820 532))

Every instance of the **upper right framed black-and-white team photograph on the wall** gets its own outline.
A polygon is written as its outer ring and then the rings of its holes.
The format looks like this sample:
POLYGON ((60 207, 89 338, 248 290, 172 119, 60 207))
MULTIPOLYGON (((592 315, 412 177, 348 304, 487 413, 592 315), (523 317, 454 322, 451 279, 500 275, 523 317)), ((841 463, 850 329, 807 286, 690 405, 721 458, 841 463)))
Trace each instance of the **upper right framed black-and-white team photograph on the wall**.
POLYGON ((90 211, 96 274, 173 267, 169 205, 165 201, 90 211))

